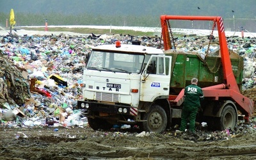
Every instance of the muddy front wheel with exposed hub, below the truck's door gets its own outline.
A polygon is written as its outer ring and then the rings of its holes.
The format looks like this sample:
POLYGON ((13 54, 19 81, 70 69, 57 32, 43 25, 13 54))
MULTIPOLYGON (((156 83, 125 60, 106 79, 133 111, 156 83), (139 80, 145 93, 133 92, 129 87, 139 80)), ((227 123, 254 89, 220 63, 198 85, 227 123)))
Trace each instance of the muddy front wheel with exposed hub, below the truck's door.
POLYGON ((167 116, 163 108, 158 105, 150 107, 150 111, 143 117, 143 131, 161 133, 166 129, 167 116))

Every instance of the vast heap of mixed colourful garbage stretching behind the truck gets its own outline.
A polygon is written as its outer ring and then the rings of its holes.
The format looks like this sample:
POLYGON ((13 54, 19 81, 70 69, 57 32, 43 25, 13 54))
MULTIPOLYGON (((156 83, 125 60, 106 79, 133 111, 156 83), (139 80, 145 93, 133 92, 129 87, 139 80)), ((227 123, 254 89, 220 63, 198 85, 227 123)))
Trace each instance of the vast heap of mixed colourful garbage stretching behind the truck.
MULTIPOLYGON (((10 127, 80 126, 86 118, 76 109, 81 99, 83 68, 93 46, 132 44, 159 47, 159 36, 5 35, 0 36, 0 117, 10 127)), ((255 88, 256 38, 228 37, 228 48, 244 58, 243 89, 255 88)), ((175 38, 176 49, 204 56, 207 36, 175 38)), ((214 39, 211 52, 219 50, 214 39)))

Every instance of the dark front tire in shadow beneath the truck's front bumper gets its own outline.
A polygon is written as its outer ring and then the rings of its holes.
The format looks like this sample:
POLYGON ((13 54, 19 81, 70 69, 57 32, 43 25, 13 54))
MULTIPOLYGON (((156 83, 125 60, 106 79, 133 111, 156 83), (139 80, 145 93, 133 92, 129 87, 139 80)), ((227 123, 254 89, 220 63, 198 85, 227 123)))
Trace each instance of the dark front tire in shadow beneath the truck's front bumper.
POLYGON ((88 124, 93 130, 103 129, 108 130, 113 127, 108 121, 99 118, 88 118, 88 124))

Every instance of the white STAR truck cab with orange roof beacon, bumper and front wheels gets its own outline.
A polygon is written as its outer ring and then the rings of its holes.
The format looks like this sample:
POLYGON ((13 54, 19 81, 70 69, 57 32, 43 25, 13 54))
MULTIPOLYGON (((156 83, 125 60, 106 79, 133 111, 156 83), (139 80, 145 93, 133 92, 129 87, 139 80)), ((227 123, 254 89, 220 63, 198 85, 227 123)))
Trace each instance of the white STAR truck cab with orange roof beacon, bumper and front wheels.
POLYGON ((156 104, 161 100, 168 104, 171 61, 172 56, 154 47, 119 41, 94 47, 84 69, 83 100, 77 107, 86 111, 95 130, 137 124, 143 130, 163 132, 170 107, 159 109, 156 104))

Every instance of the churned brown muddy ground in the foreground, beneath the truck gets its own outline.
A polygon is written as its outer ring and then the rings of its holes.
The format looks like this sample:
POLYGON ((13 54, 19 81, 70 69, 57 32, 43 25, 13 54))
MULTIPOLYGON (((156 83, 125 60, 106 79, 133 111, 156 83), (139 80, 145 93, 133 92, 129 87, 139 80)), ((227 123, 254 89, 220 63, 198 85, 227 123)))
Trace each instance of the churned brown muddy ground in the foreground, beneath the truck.
POLYGON ((0 127, 0 159, 256 159, 255 124, 239 124, 229 135, 170 129, 142 137, 134 128, 0 127))

